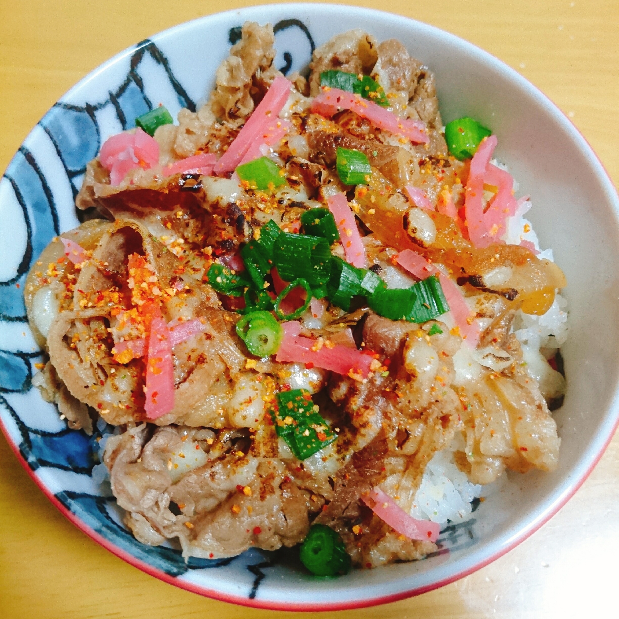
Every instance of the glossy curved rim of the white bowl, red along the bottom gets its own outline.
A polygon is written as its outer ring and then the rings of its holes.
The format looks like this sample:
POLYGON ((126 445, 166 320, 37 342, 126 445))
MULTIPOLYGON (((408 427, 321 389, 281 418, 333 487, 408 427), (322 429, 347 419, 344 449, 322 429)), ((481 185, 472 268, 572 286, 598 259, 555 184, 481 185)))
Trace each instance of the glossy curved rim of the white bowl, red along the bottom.
MULTIPOLYGON (((379 11, 378 9, 370 9, 367 7, 357 7, 353 5, 344 5, 344 4, 326 4, 326 3, 308 3, 308 2, 282 2, 280 4, 264 4, 261 6, 246 6, 238 9, 229 9, 228 11, 221 11, 212 13, 209 15, 203 15, 201 17, 197 17, 196 19, 189 20, 187 22, 183 22, 181 24, 175 25, 173 27, 162 30, 152 37, 149 37, 150 41, 157 41, 160 38, 165 38, 170 35, 175 35, 185 28, 193 28, 197 24, 201 22, 208 22, 209 20, 214 19, 228 19, 233 15, 238 16, 240 19, 243 19, 244 14, 250 12, 251 17, 249 19, 259 19, 256 17, 256 13, 264 12, 268 13, 269 11, 282 11, 283 9, 290 7, 293 11, 354 11, 355 14, 365 16, 365 17, 376 17, 378 19, 385 19, 398 17, 399 19, 406 20, 411 24, 414 24, 416 27, 425 28, 430 33, 434 35, 439 35, 443 38, 451 40, 452 43, 457 43, 458 45, 467 48, 470 53, 473 53, 477 56, 477 58, 487 66, 492 66, 495 69, 500 69, 506 77, 512 82, 515 82, 517 86, 521 87, 521 89, 527 90, 530 97, 534 98, 535 102, 542 106, 545 111, 552 114, 556 121, 560 122, 561 129, 565 131, 568 136, 571 138, 573 142, 576 142, 581 153, 587 158, 587 160, 595 160, 599 164, 600 170, 603 171, 597 174, 597 180, 600 183, 600 186, 604 189, 605 195, 608 197, 608 202, 611 203, 613 207, 615 219, 619 222, 619 195, 617 193, 617 189, 615 188, 608 171, 604 167, 604 163, 600 160, 598 155, 592 149, 591 144, 587 141, 586 137, 582 135, 578 128, 574 125, 573 121, 568 118, 568 116, 560 110, 558 105, 554 103, 547 95, 545 95, 537 86, 529 82, 525 77, 521 76, 516 70, 509 67, 508 64, 504 63, 500 59, 496 58, 489 52, 483 50, 482 48, 470 43, 469 41, 457 37, 457 35, 452 34, 451 32, 447 32, 442 28, 438 28, 436 26, 426 24, 425 22, 420 22, 419 20, 412 19, 405 15, 399 15, 397 13, 392 13, 389 11, 379 11)), ((139 44, 136 44, 139 45, 139 44)), ((126 48, 123 51, 112 56, 110 59, 95 67, 92 71, 89 72, 86 76, 79 80, 74 86, 71 87, 64 95, 59 99, 60 101, 64 98, 70 97, 74 92, 84 87, 91 80, 96 79, 100 73, 105 72, 108 67, 113 66, 118 63, 126 56, 130 56, 136 50, 136 45, 132 45, 129 48, 126 48)), ((27 139, 27 138, 26 138, 27 139)), ((230 602, 232 604, 243 605, 251 608, 264 608, 267 610, 287 610, 287 611, 336 611, 336 610, 348 610, 348 609, 356 609, 356 608, 365 608, 379 604, 388 604, 390 602, 397 602, 398 600, 406 599, 409 597, 413 597, 415 595, 420 595, 428 591, 433 591, 433 589, 438 589, 439 587, 443 587, 451 582, 457 581, 469 574, 474 573, 478 569, 483 568, 484 566, 492 563, 496 559, 508 553, 510 550, 513 550, 517 545, 524 542, 524 540, 528 539, 530 535, 534 534, 537 530, 540 529, 546 522, 548 522, 553 516, 555 516, 558 511, 565 506, 565 504, 569 501, 569 499, 574 496, 576 491, 582 486, 582 484, 586 481, 587 477, 591 474, 592 470, 595 468, 595 465, 600 461, 601 457, 604 455, 605 450, 610 444, 610 441, 613 439, 613 435, 615 435, 615 431, 619 427, 619 376, 615 377, 615 383, 609 389, 609 392, 612 392, 612 397, 609 398, 609 404, 607 406, 607 412, 604 417, 602 417, 602 422, 599 425, 599 428, 595 432, 595 434, 591 438, 591 442, 589 446, 587 446, 586 451, 582 454, 581 458, 574 465, 573 468, 573 477, 574 479, 569 480, 569 482, 563 482, 564 490, 560 493, 560 495, 553 501, 552 504, 548 505, 545 510, 537 515, 529 524, 521 527, 516 533, 511 535, 508 540, 504 540, 501 543, 500 540, 497 540, 495 545, 498 546, 498 549, 495 552, 491 552, 487 556, 483 556, 477 563, 473 565, 467 566, 464 569, 460 569, 456 573, 453 573, 446 578, 440 579, 435 582, 431 582, 419 587, 413 587, 412 589, 404 589, 402 591, 396 592, 394 594, 376 596, 371 598, 364 598, 361 600, 345 600, 342 602, 329 602, 326 604, 321 604, 321 602, 279 602, 275 600, 268 599, 250 599, 248 597, 244 597, 241 595, 233 595, 233 594, 224 594, 217 589, 210 589, 205 586, 198 586, 193 582, 186 581, 184 579, 176 578, 175 576, 170 576, 164 571, 154 568, 149 565, 145 561, 129 554, 122 548, 116 546, 114 543, 106 540, 102 535, 100 535, 97 531, 92 529, 89 525, 87 525, 82 519, 80 519, 76 514, 72 513, 69 509, 67 509, 59 500, 54 496, 54 494, 46 487, 43 480, 41 480, 38 475, 35 474, 35 471, 30 468, 24 456, 19 450, 19 446, 14 443, 11 438, 11 435, 4 424, 2 419, 0 418, 0 430, 4 433, 5 438, 7 439, 7 443, 11 447, 12 451, 17 457, 17 460, 20 462, 22 467, 26 470, 27 474, 32 478, 35 484, 40 488, 43 494, 50 500, 50 502, 60 511, 63 516, 65 516, 69 521, 72 522, 78 529, 88 535, 91 539, 101 545, 106 550, 109 550, 113 555, 118 556, 129 565, 132 565, 144 573, 149 574, 150 576, 154 576, 155 578, 168 582, 168 584, 172 584, 176 587, 180 587, 181 589, 185 589, 186 591, 190 591, 199 595, 203 595, 209 597, 211 599, 220 600, 223 602, 230 602)), ((561 485, 558 486, 561 488, 561 485)))

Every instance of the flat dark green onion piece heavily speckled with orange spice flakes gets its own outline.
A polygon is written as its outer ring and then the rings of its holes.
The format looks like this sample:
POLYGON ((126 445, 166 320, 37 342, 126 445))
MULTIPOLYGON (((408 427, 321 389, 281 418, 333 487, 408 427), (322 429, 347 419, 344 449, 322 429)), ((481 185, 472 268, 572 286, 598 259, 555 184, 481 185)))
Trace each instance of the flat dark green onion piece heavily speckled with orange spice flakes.
POLYGON ((277 394, 277 407, 271 409, 271 417, 277 436, 284 438, 299 460, 305 460, 337 439, 314 410, 314 402, 305 389, 277 394))

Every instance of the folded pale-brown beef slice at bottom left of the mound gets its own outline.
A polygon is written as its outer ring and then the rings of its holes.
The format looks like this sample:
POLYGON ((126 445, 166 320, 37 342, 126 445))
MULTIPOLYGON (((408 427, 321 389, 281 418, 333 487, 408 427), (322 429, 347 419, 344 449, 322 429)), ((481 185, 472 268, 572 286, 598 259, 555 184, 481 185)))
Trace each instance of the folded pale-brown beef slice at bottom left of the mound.
POLYGON ((178 538, 184 556, 204 558, 301 542, 313 509, 310 493, 285 478, 280 461, 244 454, 223 431, 211 447, 200 432, 167 426, 151 435, 142 425, 108 440, 111 487, 137 539, 159 545, 178 538), (178 454, 183 465, 196 448, 206 462, 174 483, 178 454))

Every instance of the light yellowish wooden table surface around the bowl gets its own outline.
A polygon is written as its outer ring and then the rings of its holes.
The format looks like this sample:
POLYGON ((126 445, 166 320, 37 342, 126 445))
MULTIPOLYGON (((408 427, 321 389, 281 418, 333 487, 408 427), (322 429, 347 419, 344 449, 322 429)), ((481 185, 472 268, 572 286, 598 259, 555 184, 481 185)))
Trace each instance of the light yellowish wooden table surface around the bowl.
MULTIPOLYGON (((252 3, 0 0, 0 170, 45 111, 98 64, 171 25, 245 4, 252 3)), ((356 0, 351 4, 428 22, 472 41, 520 71, 568 113, 617 185, 617 0, 356 0)), ((215 613, 220 619, 241 619, 296 614, 215 602, 123 563, 56 511, 4 438, 0 439, 0 471, 2 618, 188 619, 215 613)), ((342 619, 617 617, 617 604, 612 604, 617 556, 619 436, 568 505, 500 560, 410 600, 331 615, 342 619)))

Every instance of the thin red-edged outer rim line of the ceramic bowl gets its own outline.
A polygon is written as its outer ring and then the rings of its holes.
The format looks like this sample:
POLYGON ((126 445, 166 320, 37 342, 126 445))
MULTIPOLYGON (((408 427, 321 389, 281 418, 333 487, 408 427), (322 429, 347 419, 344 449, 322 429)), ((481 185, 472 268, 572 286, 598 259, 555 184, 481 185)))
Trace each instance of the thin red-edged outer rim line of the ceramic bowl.
MULTIPOLYGON (((285 6, 284 4, 272 4, 272 5, 264 5, 264 6, 257 6, 257 7, 246 7, 246 9, 248 9, 249 11, 251 11, 252 9, 253 10, 262 9, 262 10, 267 11, 268 9, 282 9, 282 7, 284 6, 285 6)), ((311 4, 311 5, 291 4, 290 6, 294 7, 297 11, 300 10, 302 7, 308 7, 308 6, 311 7, 313 11, 316 11, 316 9, 319 9, 321 7, 333 7, 333 5, 329 5, 329 4, 311 4)), ((573 121, 571 121, 571 119, 569 119, 568 116, 566 116, 565 113, 547 95, 545 95, 539 88, 537 88, 537 86, 529 82, 529 80, 527 80, 526 78, 522 77, 519 73, 514 71, 514 69, 511 69, 511 67, 503 63, 503 61, 501 61, 500 59, 495 58, 495 56, 493 56, 489 52, 482 50, 482 48, 479 48, 473 43, 469 43, 469 41, 465 41, 464 39, 457 37, 456 35, 453 35, 447 32, 446 30, 441 30, 441 28, 431 26, 430 24, 425 24, 424 22, 418 22, 417 20, 410 19, 410 17, 405 17, 404 15, 397 15, 395 13, 389 13, 387 11, 377 11, 375 9, 366 9, 365 7, 362 8, 362 7, 342 6, 341 8, 342 9, 345 9, 345 8, 355 9, 356 11, 361 11, 361 12, 368 13, 368 14, 389 15, 389 16, 394 16, 394 17, 400 17, 400 19, 405 19, 415 24, 423 25, 423 27, 430 28, 431 30, 435 30, 436 32, 441 33, 442 35, 448 35, 449 37, 452 37, 460 41, 461 43, 465 43, 467 46, 474 48, 474 50, 477 51, 477 53, 482 54, 482 56, 485 56, 486 59, 491 59, 495 63, 500 63, 504 70, 506 70, 513 77, 517 76, 519 80, 523 80, 524 82, 526 82, 526 84, 529 87, 533 87, 535 90, 537 90, 537 93, 541 97, 543 97, 543 99, 545 100, 547 104, 550 104, 550 106, 552 106, 552 108, 554 108, 555 111, 558 111, 561 113, 561 115, 566 119, 566 121, 568 121, 571 128, 573 128, 574 130, 576 130, 576 132, 578 132, 579 137, 581 137, 581 139, 587 145, 587 148, 589 149, 590 154, 592 154, 597 159, 597 161, 600 164, 600 167, 602 168, 602 170, 604 170, 607 180, 610 182, 610 186, 614 189, 612 179, 610 178, 608 171, 604 167, 604 163, 602 163, 600 158, 597 156, 595 151, 592 149, 591 144, 589 144, 586 137, 584 137, 581 131, 579 131, 579 129, 574 125, 573 121)), ((167 30, 163 30, 162 32, 155 35, 155 37, 167 35, 168 33, 171 33, 174 30, 176 30, 177 28, 184 28, 193 22, 199 22, 202 20, 206 20, 206 19, 214 17, 215 15, 220 15, 223 17, 224 15, 227 15, 227 14, 238 15, 240 14, 240 12, 241 11, 233 10, 233 11, 214 13, 211 15, 205 15, 204 17, 200 17, 196 20, 184 22, 184 24, 179 24, 174 27, 168 28, 167 30)), ((124 50, 121 53, 116 54, 115 56, 113 56, 113 58, 110 58, 110 60, 103 63, 100 67, 98 67, 97 69, 94 69, 94 71, 92 71, 90 74, 85 76, 82 80, 80 80, 80 82, 78 82, 76 86, 74 86, 71 90, 73 90, 74 88, 82 84, 84 80, 89 79, 89 77, 92 76, 94 72, 101 71, 106 66, 108 66, 108 64, 115 63, 119 58, 122 58, 126 54, 131 53, 133 50, 134 50, 134 47, 131 47, 131 48, 128 48, 128 50, 124 50)), ((69 90, 69 92, 71 92, 71 90, 69 90)), ((615 189, 615 196, 617 196, 616 189, 615 189)), ((619 199, 619 196, 618 196, 618 199, 619 199)), ((617 400, 617 397, 615 397, 615 400, 617 400)), ((616 404, 617 402, 613 402, 609 406, 609 410, 616 408, 616 404)), ((496 561, 498 558, 508 553, 510 550, 513 550, 517 545, 519 545, 520 543, 528 539, 532 534, 534 534, 544 524, 546 524, 553 516, 555 516, 555 514, 558 513, 558 511, 560 511, 560 509, 563 508, 563 506, 565 506, 565 504, 574 496, 576 491, 579 490, 582 484, 586 481, 587 477, 591 475, 592 470, 595 468, 597 463, 600 461, 600 458, 604 455, 604 452, 606 451, 608 444, 610 444, 610 441, 612 441, 613 436, 615 435, 615 431, 617 431, 617 428, 619 427, 619 411, 615 412, 615 417, 616 418, 613 423, 612 429, 609 431, 608 436, 604 439, 604 443, 602 444, 602 446, 599 448, 599 450, 597 451, 597 453, 591 460, 589 467, 587 467, 584 473, 581 474, 581 477, 578 479, 578 481, 576 481, 569 487, 569 489, 564 493, 564 495, 560 498, 559 501, 557 501, 554 505, 550 506, 547 513, 544 514, 544 516, 541 519, 539 519, 539 521, 534 522, 532 526, 521 529, 521 531, 517 535, 514 535, 514 537, 511 539, 511 542, 508 543, 508 545, 502 546, 500 550, 498 550, 498 552, 495 552, 491 554, 490 556, 487 556, 486 558, 484 558, 481 561, 478 561, 478 563, 475 563, 475 565, 472 565, 469 568, 462 569, 461 571, 455 574, 452 574, 451 576, 448 576, 448 578, 444 578, 439 581, 432 582, 431 584, 427 584, 425 586, 415 587, 413 589, 409 589, 407 591, 402 591, 402 592, 391 594, 391 595, 366 598, 363 600, 359 600, 358 602, 354 600, 346 600, 344 602, 330 602, 328 604, 320 604, 319 602, 318 603, 316 602, 303 602, 303 603, 274 602, 272 600, 261 600, 261 599, 255 599, 255 598, 250 599, 249 597, 242 597, 240 595, 223 594, 222 592, 216 591, 215 589, 208 589, 207 587, 196 586, 191 582, 184 581, 183 579, 176 578, 175 576, 170 576, 164 571, 154 568, 148 563, 145 563, 145 561, 142 561, 136 558, 135 556, 131 555, 130 553, 122 550, 115 544, 106 540, 105 537, 98 534, 95 530, 93 530, 91 527, 85 524, 84 521, 82 521, 79 517, 77 517, 76 514, 72 513, 69 509, 67 509, 58 500, 58 498, 56 498, 56 496, 50 492, 50 490, 40 480, 40 478, 38 478, 37 475, 35 475, 35 472, 30 468, 30 466, 28 465, 28 462, 24 459, 24 456, 22 456, 21 452, 19 451, 19 447, 12 440, 11 435, 9 434, 9 431, 4 425, 4 422, 2 422, 1 418, 0 418, 0 428, 2 430, 2 433, 4 433, 7 443, 9 444, 12 451, 14 452, 15 457, 17 457, 17 460, 20 462, 22 467, 24 467, 28 475, 30 475, 30 478, 32 478, 32 480, 40 488, 43 494, 45 494, 45 496, 54 505, 54 507, 56 507, 56 509, 58 509, 58 511, 61 514, 63 514, 63 516, 65 516, 69 521, 71 521, 72 524, 74 524, 78 529, 82 530, 82 532, 88 535, 91 539, 93 539, 103 548, 105 548, 106 550, 109 550, 113 555, 116 555, 121 560, 125 561, 126 563, 129 563, 129 565, 132 565, 135 568, 140 569, 144 573, 149 574, 150 576, 154 576, 155 578, 161 581, 168 582, 168 584, 179 587, 180 589, 184 589, 192 593, 203 595, 204 597, 209 597, 211 599, 220 600, 222 602, 230 602, 231 604, 238 604, 238 605, 242 605, 242 606, 246 606, 250 608, 264 608, 266 610, 288 610, 292 612, 296 612, 296 611, 301 611, 301 612, 303 611, 305 612, 323 611, 324 612, 324 611, 336 611, 336 610, 352 610, 356 608, 366 608, 366 607, 380 605, 380 604, 389 604, 390 602, 397 602, 399 600, 403 600, 409 597, 414 597, 415 595, 421 595, 428 591, 439 589, 439 587, 448 585, 451 582, 464 578, 465 576, 469 576, 469 574, 476 572, 478 569, 485 567, 489 563, 496 561)), ((592 439, 592 442, 594 441, 594 439, 595 439, 595 436, 592 439)))

